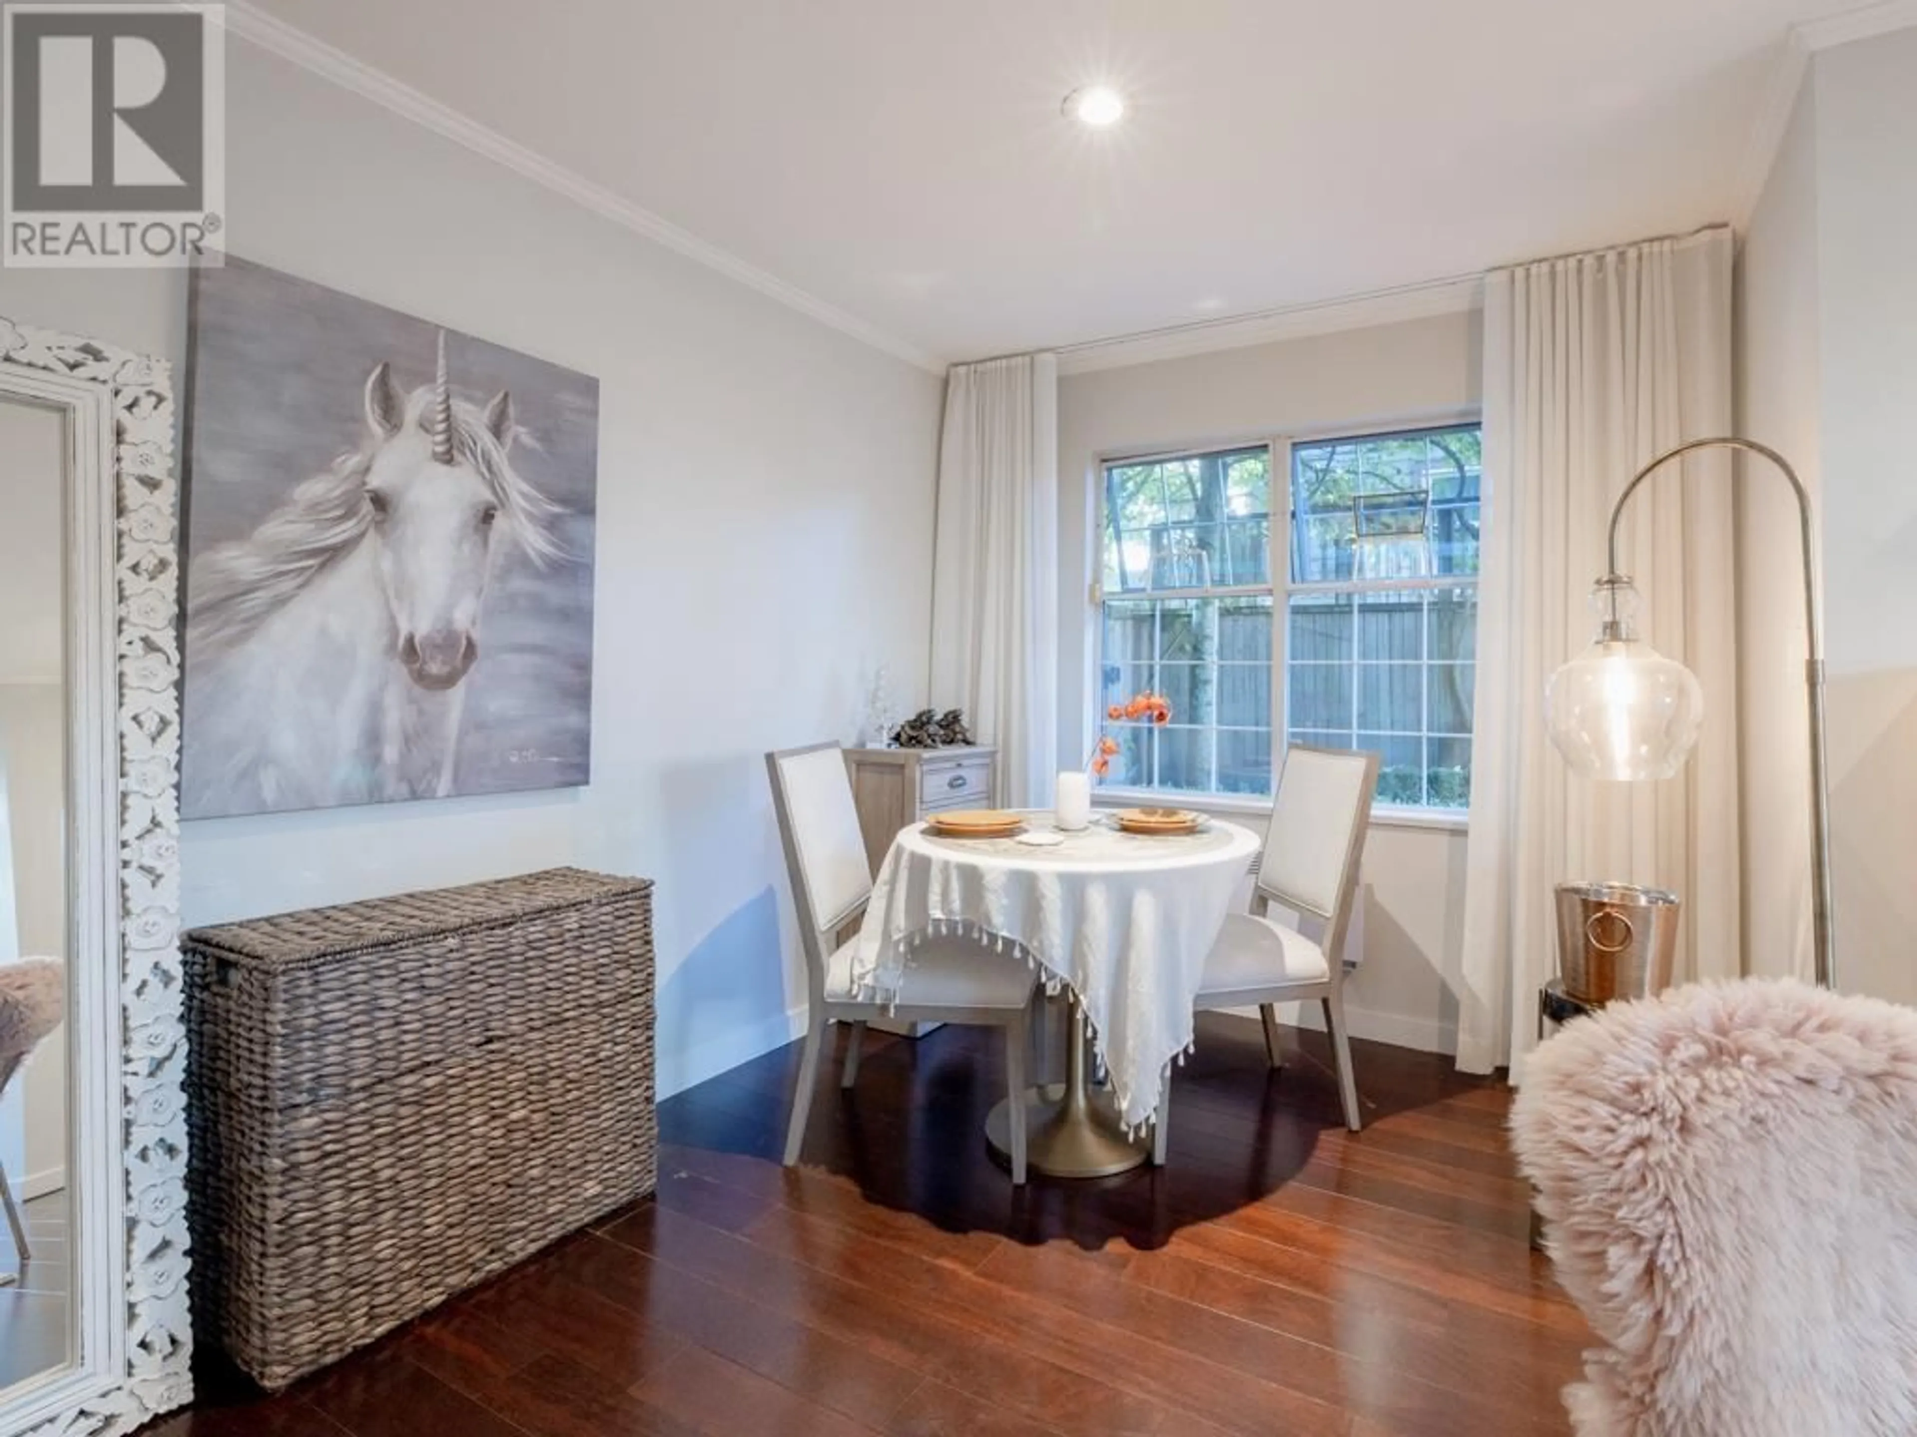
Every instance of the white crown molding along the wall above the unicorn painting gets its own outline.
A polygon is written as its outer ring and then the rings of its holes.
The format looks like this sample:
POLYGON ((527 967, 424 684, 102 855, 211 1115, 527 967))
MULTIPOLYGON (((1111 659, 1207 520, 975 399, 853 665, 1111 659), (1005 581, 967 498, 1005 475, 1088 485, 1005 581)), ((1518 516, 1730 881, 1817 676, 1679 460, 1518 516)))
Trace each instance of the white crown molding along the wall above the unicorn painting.
POLYGON ((335 46, 307 34, 295 25, 288 25, 284 19, 268 15, 255 4, 249 4, 249 0, 226 0, 226 29, 243 40, 257 44, 261 50, 268 50, 301 69, 318 75, 320 79, 332 80, 343 90, 351 90, 362 100, 370 100, 376 105, 412 121, 414 125, 466 146, 473 153, 483 155, 497 165, 504 165, 516 174, 544 186, 556 195, 562 195, 575 205, 612 220, 613 224, 625 226, 633 234, 665 245, 667 249, 684 255, 709 270, 717 270, 728 280, 734 280, 748 289, 755 289, 767 299, 774 299, 780 305, 817 320, 819 324, 830 326, 840 333, 851 335, 853 339, 901 358, 907 364, 914 364, 920 370, 945 374, 945 362, 916 345, 897 339, 866 324, 855 314, 847 314, 836 305, 830 305, 797 285, 786 284, 776 274, 769 274, 767 270, 742 261, 738 255, 700 240, 696 234, 690 234, 671 220, 654 215, 650 209, 635 205, 631 199, 613 194, 606 186, 596 184, 564 165, 556 165, 516 140, 508 140, 498 130, 479 125, 450 105, 443 105, 431 96, 414 90, 410 84, 393 79, 385 71, 374 69, 366 61, 349 56, 345 50, 337 50, 335 46))

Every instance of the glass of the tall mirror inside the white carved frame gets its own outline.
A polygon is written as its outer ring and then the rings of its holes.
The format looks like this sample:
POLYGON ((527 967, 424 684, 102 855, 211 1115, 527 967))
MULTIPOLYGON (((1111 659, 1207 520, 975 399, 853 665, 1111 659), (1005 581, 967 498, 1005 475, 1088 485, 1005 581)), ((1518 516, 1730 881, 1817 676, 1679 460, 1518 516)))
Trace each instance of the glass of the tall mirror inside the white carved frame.
POLYGON ((0 1393, 75 1357, 65 410, 0 395, 0 1393))

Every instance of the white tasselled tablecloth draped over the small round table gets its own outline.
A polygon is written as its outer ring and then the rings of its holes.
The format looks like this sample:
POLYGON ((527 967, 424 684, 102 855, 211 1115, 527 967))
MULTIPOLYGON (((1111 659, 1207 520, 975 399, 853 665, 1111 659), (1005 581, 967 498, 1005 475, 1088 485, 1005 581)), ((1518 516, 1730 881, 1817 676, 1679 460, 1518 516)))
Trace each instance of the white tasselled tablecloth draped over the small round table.
MULTIPOLYGON (((1049 814, 1028 816, 1049 830, 1049 814)), ((1051 849, 1016 839, 893 839, 853 950, 865 996, 889 1002, 926 933, 972 931, 1016 948, 1047 987, 1077 994, 1127 1127, 1158 1106, 1190 1046, 1192 996, 1258 839, 1212 820, 1185 837, 1120 833, 1102 820, 1051 849)))

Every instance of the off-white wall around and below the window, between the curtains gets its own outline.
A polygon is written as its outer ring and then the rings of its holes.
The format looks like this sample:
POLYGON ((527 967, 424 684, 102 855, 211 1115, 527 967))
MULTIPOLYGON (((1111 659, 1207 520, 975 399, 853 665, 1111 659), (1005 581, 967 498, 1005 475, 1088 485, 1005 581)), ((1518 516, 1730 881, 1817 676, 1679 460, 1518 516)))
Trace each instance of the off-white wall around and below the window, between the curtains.
MULTIPOLYGON (((1060 755, 1091 740, 1093 483, 1102 454, 1263 439, 1474 412, 1476 312, 1072 374, 1058 385, 1060 755)), ((1235 820, 1256 816, 1235 812, 1235 820)), ((1351 1031, 1453 1052, 1465 916, 1465 832, 1378 824, 1365 849, 1365 960, 1346 989, 1351 1031)), ((1305 1021, 1315 1021, 1307 1014, 1305 1021)))

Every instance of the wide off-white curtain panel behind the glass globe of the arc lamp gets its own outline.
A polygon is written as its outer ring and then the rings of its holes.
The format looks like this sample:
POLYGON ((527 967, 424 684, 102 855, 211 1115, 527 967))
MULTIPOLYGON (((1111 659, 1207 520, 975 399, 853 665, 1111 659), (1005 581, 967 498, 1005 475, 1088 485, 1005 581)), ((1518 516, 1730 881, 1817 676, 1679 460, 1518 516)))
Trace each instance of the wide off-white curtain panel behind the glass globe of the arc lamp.
POLYGON ((1545 682, 1593 638, 1610 506, 1656 454, 1731 431, 1731 232, 1495 270, 1484 307, 1484 538, 1459 1067, 1536 1046, 1557 968, 1553 887, 1616 879, 1683 899, 1677 977, 1735 977, 1737 634, 1729 458, 1647 481, 1620 569, 1641 636, 1704 686, 1681 776, 1574 778, 1545 732, 1545 682))

